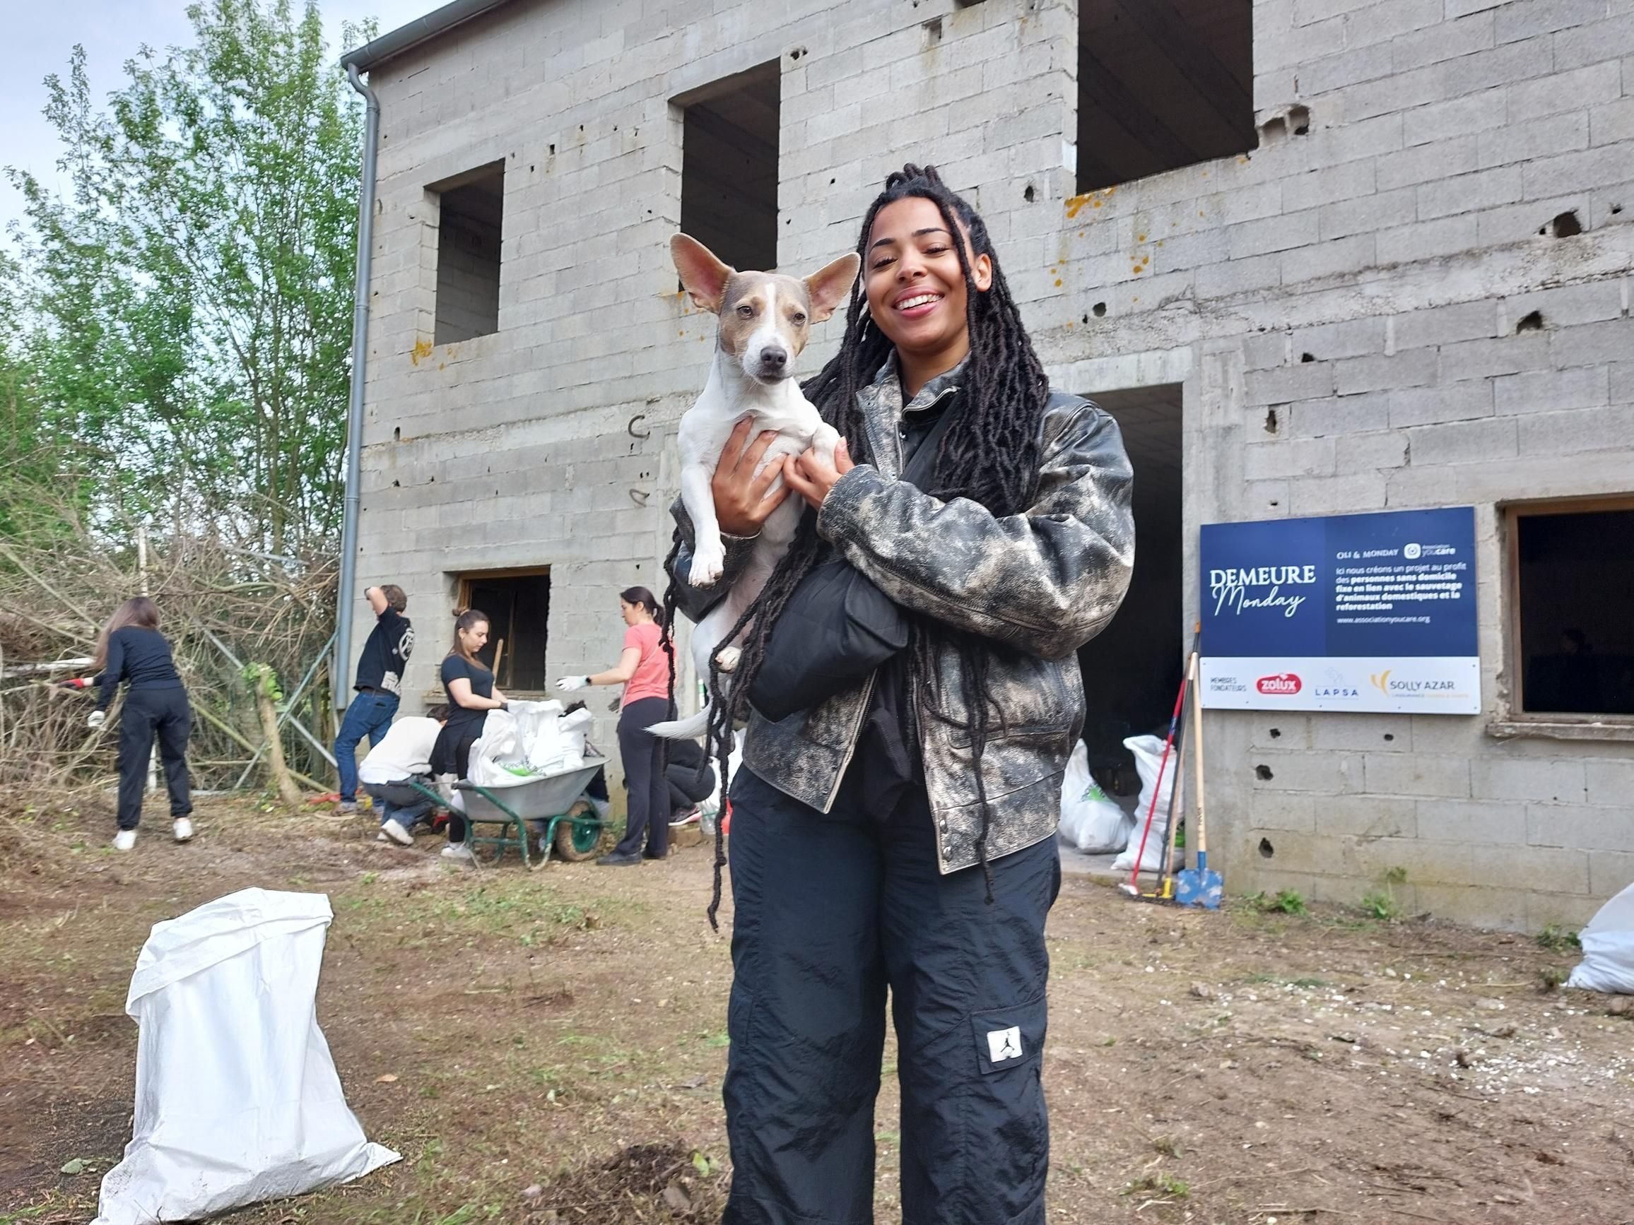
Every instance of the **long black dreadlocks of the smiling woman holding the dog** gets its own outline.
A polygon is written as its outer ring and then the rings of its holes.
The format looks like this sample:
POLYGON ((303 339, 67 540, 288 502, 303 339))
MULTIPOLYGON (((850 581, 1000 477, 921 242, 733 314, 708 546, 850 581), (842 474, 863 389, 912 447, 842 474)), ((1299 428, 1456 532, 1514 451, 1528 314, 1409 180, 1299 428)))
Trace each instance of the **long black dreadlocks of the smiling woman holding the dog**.
MULTIPOLYGON (((884 191, 863 217, 856 252, 864 260, 864 268, 868 240, 879 211, 910 196, 931 201, 941 212, 948 232, 954 235, 953 247, 959 255, 959 270, 964 274, 966 320, 971 333, 971 356, 961 379, 959 410, 943 434, 936 451, 931 487, 926 492, 941 500, 969 498, 998 516, 1018 514, 1033 505, 1038 493, 1039 421, 1049 399, 1049 379, 1044 376, 1044 366, 1033 351, 1033 341, 1021 325, 1021 312, 1016 309, 1010 284, 1000 271, 998 255, 993 252, 985 222, 975 209, 941 181, 935 167, 909 163, 886 178, 884 191), (959 234, 966 235, 969 245, 958 240, 959 234), (992 261, 992 286, 987 291, 977 289, 971 266, 974 258, 980 255, 992 261)), ((851 284, 840 353, 802 385, 806 397, 817 405, 824 420, 840 431, 853 459, 859 464, 871 462, 871 452, 856 394, 874 381, 894 348, 868 314, 864 278, 866 273, 851 284)), ((765 658, 771 627, 783 614, 794 588, 822 560, 825 552, 827 546, 817 536, 817 516, 807 513, 801 519, 789 552, 766 580, 765 590, 721 644, 725 645, 737 634, 747 630, 742 644, 743 652, 727 693, 722 693, 719 670, 711 663, 709 740, 712 756, 721 763, 722 779, 725 777, 724 768, 730 750, 732 727, 748 714, 748 691, 765 658)), ((987 789, 982 782, 982 755, 987 746, 990 717, 997 709, 987 691, 987 653, 992 647, 966 630, 956 630, 923 617, 913 619, 909 650, 915 689, 938 683, 935 660, 941 644, 958 650, 962 665, 964 693, 961 699, 971 722, 972 768, 977 802, 982 810, 982 828, 977 835, 975 851, 987 880, 987 900, 992 902, 993 877, 987 861, 990 813, 987 789)), ((714 653, 711 652, 711 660, 714 653)), ((711 924, 716 923, 716 911, 721 905, 721 869, 724 864, 725 844, 717 823, 714 893, 709 902, 711 924)))

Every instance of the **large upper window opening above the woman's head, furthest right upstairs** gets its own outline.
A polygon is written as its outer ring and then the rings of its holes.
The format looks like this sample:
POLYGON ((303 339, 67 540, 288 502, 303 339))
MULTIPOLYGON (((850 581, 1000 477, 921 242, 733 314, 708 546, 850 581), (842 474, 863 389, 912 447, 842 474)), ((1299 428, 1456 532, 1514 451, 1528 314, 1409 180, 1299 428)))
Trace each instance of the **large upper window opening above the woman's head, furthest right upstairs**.
POLYGON ((1078 191, 1255 144, 1253 0, 1080 0, 1078 191))

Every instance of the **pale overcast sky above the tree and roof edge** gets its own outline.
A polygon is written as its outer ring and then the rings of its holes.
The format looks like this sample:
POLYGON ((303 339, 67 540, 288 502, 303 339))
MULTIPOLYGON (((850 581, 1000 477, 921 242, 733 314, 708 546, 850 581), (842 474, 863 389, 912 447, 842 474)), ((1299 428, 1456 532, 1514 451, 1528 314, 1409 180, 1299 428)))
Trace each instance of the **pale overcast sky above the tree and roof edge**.
MULTIPOLYGON (((302 0, 294 0, 299 11, 302 0)), ((330 54, 337 59, 345 21, 376 18, 384 34, 438 8, 443 0, 319 0, 330 54)), ((59 145, 41 116, 47 74, 67 72, 75 42, 85 44, 87 72, 98 96, 124 83, 124 62, 144 42, 191 42, 188 0, 0 0, 8 13, 0 42, 0 167, 60 181, 59 145)), ((0 180, 0 234, 21 216, 23 198, 0 180)))

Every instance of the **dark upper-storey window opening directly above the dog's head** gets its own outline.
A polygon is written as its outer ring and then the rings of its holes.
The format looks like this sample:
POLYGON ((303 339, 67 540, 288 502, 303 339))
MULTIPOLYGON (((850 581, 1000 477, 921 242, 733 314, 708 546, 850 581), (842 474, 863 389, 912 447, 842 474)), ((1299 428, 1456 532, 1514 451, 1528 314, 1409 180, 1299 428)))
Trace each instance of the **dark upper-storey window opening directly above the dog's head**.
POLYGON ((673 100, 681 109, 681 229, 734 268, 778 266, 778 60, 673 100))

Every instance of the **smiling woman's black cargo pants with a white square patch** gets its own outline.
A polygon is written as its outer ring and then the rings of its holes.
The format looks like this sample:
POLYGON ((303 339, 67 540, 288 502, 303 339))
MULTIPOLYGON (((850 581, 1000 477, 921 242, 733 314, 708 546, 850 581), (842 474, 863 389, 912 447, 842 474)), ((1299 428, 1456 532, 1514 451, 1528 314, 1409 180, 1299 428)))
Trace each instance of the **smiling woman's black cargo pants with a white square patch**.
POLYGON ((846 779, 828 815, 732 779, 722 1225, 869 1225, 886 991, 904 1225, 1042 1225, 1039 1081, 1056 840, 941 875, 923 791, 889 820, 846 779))

